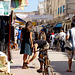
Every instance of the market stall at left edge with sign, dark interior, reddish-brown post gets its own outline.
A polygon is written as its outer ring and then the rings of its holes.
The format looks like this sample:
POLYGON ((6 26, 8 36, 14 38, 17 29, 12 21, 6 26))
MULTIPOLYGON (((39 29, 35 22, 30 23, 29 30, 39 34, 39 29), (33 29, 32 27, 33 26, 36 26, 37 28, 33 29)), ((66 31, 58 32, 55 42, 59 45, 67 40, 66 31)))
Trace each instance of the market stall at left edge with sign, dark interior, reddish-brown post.
POLYGON ((2 71, 10 73, 10 35, 10 1, 0 1, 0 72, 2 71))

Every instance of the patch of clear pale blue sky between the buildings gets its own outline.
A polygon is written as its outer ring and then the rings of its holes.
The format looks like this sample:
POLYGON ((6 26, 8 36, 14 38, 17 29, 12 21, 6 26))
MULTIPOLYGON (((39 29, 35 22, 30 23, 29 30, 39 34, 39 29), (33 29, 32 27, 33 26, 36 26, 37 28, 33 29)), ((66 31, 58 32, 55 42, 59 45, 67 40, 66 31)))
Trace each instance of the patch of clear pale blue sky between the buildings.
POLYGON ((14 12, 32 12, 38 10, 38 2, 44 0, 28 0, 28 6, 24 8, 24 10, 14 10, 14 12))

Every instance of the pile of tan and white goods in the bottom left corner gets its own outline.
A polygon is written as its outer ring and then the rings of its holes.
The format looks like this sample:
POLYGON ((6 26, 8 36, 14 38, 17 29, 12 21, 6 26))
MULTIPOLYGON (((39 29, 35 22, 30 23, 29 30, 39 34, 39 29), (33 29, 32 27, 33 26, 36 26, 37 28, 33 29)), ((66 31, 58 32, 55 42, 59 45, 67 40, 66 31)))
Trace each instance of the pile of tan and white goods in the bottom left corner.
POLYGON ((13 75, 8 72, 8 58, 7 55, 0 51, 0 75, 13 75))

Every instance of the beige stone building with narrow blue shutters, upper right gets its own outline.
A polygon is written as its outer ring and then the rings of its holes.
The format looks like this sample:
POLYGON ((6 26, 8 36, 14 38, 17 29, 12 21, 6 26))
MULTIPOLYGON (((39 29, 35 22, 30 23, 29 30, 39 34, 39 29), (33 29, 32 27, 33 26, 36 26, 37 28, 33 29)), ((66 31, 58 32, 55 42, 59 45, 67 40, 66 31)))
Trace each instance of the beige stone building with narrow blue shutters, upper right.
POLYGON ((62 23, 65 30, 70 27, 72 17, 75 15, 74 0, 45 0, 46 14, 53 16, 52 25, 62 23), (67 28, 66 28, 67 27, 67 28))

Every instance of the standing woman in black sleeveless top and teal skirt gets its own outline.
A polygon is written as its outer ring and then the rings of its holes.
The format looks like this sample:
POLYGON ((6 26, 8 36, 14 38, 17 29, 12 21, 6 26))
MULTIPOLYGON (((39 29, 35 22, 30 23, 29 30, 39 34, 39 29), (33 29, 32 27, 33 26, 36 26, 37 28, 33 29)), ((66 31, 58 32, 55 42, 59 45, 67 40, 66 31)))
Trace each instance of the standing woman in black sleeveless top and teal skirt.
POLYGON ((27 69, 27 63, 29 63, 29 58, 32 55, 31 48, 33 47, 32 41, 32 22, 28 21, 25 28, 21 31, 21 51, 20 54, 23 54, 23 66, 22 69, 27 69), (29 58, 27 59, 27 57, 29 58))

